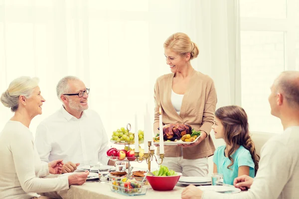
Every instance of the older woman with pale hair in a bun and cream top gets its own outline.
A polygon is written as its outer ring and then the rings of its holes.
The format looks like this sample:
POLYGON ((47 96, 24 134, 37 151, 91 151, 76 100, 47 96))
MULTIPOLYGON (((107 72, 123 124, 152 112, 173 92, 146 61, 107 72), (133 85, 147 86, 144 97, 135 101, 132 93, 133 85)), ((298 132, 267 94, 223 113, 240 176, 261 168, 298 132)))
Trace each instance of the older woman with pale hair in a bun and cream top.
POLYGON ((13 80, 1 95, 0 101, 14 115, 0 132, 0 199, 43 198, 45 193, 69 189, 70 185, 82 185, 88 172, 62 178, 41 177, 61 174, 62 160, 42 163, 34 146, 29 124, 42 113, 45 101, 40 94, 38 79, 20 77, 13 80))

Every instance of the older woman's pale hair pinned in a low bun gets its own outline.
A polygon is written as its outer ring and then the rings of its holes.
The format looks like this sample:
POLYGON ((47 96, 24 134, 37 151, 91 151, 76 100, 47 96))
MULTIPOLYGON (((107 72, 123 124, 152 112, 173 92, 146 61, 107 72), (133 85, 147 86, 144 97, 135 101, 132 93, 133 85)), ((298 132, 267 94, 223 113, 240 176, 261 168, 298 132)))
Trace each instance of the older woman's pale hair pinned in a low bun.
POLYGON ((15 112, 18 108, 19 96, 30 98, 33 90, 38 86, 38 78, 19 77, 14 79, 8 89, 2 93, 0 101, 2 104, 15 112))

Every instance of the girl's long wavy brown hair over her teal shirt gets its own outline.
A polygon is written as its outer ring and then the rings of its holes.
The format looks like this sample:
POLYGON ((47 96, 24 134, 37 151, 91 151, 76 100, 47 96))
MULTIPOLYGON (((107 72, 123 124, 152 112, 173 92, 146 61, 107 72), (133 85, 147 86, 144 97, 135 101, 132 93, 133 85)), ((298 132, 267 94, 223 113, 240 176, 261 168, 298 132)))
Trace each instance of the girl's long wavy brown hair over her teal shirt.
POLYGON ((248 119, 245 110, 236 105, 223 106, 218 108, 215 112, 215 116, 221 121, 224 127, 224 140, 232 146, 228 151, 228 158, 231 164, 227 166, 228 169, 234 164, 234 159, 231 155, 236 151, 237 145, 243 146, 247 149, 252 157, 255 165, 255 174, 259 168, 260 156, 256 153, 255 145, 251 140, 248 130, 248 119))

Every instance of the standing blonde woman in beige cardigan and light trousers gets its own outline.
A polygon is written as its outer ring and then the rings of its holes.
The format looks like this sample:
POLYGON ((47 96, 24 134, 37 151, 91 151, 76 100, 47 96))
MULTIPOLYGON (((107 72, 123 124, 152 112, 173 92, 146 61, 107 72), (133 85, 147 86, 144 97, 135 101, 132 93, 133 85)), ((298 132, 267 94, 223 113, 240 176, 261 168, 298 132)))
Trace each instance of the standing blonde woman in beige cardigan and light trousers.
POLYGON ((166 64, 171 73, 157 78, 154 86, 154 132, 158 133, 159 107, 163 124, 188 123, 202 135, 190 145, 165 146, 163 165, 183 176, 207 176, 208 157, 215 147, 210 137, 217 102, 213 80, 191 66, 197 45, 184 33, 175 33, 164 42, 166 64))

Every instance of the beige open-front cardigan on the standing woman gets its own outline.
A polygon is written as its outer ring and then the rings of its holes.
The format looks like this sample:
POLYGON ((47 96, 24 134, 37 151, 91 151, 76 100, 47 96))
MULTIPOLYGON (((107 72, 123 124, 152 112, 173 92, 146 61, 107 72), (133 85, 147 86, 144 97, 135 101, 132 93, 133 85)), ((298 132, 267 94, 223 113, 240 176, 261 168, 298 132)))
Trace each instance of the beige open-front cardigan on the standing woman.
MULTIPOLYGON (((188 123, 195 130, 207 133, 207 138, 198 145, 183 148, 184 159, 198 159, 214 154, 215 146, 210 137, 214 123, 214 112, 217 102, 213 80, 200 72, 193 71, 184 94, 180 115, 171 103, 172 79, 174 73, 163 75, 156 80, 154 86, 154 123, 159 122, 159 106, 161 105, 163 124, 188 123)), ((154 129, 156 132, 156 130, 154 129)), ((165 157, 180 157, 181 147, 165 146, 165 157)))

